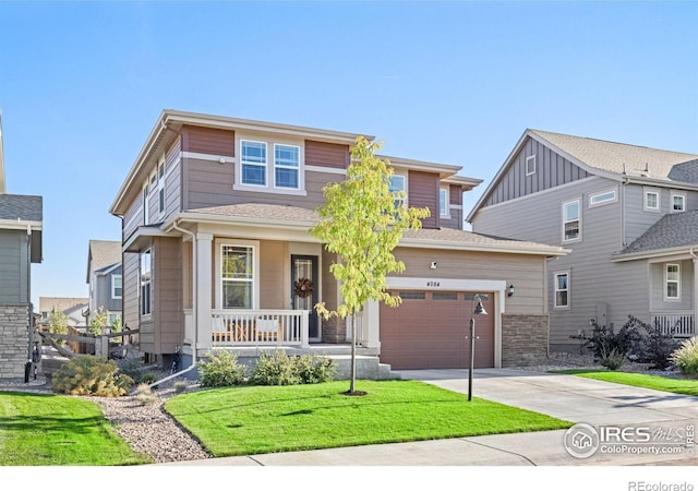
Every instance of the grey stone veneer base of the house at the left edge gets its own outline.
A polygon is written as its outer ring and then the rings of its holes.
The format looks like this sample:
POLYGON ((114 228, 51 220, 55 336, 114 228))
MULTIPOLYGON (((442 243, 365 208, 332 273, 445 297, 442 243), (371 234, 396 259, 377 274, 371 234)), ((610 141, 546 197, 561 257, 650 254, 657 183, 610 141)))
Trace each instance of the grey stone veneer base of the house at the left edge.
POLYGON ((0 380, 24 382, 29 346, 29 312, 26 303, 0 306, 0 380))

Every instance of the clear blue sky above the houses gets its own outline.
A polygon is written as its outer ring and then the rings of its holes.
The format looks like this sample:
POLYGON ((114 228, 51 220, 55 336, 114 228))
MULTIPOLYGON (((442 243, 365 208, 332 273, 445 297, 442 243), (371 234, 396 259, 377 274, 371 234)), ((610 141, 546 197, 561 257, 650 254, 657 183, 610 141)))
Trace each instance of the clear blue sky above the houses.
POLYGON ((0 1, 8 192, 44 196, 33 300, 87 244, 165 108, 375 135, 483 179, 527 128, 698 153, 698 2, 0 1))

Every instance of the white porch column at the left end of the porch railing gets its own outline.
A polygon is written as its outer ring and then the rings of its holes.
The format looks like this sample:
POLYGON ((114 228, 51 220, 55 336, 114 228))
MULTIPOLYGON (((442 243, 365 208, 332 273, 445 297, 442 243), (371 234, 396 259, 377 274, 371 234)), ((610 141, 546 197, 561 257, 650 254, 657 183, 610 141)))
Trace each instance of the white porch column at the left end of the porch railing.
POLYGON ((212 344, 212 285, 213 285, 213 233, 196 233, 196 348, 210 348, 212 344))

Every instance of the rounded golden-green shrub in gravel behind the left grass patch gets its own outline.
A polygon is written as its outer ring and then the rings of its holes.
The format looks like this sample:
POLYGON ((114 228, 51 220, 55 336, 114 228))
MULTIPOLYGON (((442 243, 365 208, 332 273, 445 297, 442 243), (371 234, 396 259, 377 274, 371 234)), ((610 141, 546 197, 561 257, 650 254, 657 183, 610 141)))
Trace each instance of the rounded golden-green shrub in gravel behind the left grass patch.
POLYGON ((55 374, 55 392, 70 395, 96 395, 118 397, 125 395, 133 385, 133 379, 117 374, 112 360, 92 355, 81 355, 65 363, 55 374))

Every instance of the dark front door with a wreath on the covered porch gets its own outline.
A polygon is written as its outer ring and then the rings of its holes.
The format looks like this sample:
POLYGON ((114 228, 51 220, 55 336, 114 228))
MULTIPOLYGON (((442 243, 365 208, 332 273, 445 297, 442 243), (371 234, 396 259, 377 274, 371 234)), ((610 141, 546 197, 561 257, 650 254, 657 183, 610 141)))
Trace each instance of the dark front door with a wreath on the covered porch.
POLYGON ((309 333, 311 342, 320 342, 320 322, 317 322, 317 256, 291 255, 291 309, 310 310, 309 333))

